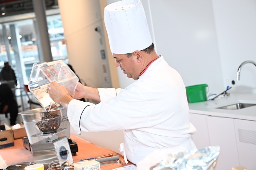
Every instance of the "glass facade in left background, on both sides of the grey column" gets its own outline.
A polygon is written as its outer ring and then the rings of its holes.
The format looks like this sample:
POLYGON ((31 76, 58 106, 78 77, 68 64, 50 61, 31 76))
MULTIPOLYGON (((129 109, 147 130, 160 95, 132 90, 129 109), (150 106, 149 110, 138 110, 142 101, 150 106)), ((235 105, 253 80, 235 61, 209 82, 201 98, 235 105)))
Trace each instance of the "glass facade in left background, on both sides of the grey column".
MULTIPOLYGON (((64 60, 68 64, 61 17, 57 14, 47 16, 46 19, 53 60, 64 60)), ((9 62, 17 78, 17 86, 13 88, 13 92, 23 111, 29 109, 25 90, 32 65, 44 62, 39 59, 38 44, 40 42, 36 37, 38 34, 35 32, 34 23, 33 17, 0 23, 0 71, 4 67, 4 62, 9 62)), ((30 97, 33 102, 37 102, 33 100, 33 96, 30 97)), ((35 105, 35 107, 37 106, 35 105)))

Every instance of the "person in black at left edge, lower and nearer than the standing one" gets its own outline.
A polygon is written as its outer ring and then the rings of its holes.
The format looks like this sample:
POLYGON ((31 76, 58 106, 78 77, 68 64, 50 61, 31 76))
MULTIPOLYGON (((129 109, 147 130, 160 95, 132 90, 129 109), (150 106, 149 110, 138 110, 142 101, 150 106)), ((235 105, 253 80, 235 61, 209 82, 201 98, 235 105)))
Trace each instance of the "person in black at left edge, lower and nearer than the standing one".
POLYGON ((8 84, 0 84, 0 114, 10 113, 10 125, 16 123, 18 105, 8 84))

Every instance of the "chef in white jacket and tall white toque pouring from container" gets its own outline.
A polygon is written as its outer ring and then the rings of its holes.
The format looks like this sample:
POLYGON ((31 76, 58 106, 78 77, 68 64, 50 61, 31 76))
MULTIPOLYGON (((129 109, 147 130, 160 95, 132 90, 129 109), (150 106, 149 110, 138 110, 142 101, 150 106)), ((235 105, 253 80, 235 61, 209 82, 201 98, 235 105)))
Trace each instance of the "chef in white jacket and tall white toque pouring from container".
POLYGON ((136 81, 125 89, 79 83, 72 97, 65 87, 53 82, 47 87, 50 97, 67 108, 78 134, 124 130, 120 150, 134 164, 156 149, 195 149, 191 134, 196 129, 189 122, 184 82, 163 56, 156 54, 141 1, 106 6, 104 21, 115 66, 136 81), (76 100, 80 98, 99 103, 76 100))

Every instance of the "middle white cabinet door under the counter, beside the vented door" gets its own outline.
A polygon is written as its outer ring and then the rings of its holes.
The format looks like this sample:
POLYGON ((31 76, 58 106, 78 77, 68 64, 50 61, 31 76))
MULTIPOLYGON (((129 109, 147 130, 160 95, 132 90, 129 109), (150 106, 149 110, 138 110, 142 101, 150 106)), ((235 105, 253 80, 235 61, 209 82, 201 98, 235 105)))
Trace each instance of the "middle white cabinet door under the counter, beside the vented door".
POLYGON ((231 118, 207 117, 211 146, 220 146, 216 170, 239 166, 234 121, 231 118))

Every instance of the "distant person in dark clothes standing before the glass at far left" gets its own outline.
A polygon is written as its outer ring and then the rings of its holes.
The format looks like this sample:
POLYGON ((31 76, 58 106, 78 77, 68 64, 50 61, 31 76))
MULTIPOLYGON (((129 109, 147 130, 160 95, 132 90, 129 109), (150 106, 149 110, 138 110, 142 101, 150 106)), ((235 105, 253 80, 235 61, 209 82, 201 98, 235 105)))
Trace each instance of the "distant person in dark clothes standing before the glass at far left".
POLYGON ((17 79, 14 70, 9 65, 8 62, 4 62, 4 67, 0 73, 0 81, 14 81, 14 84, 17 86, 17 79))

